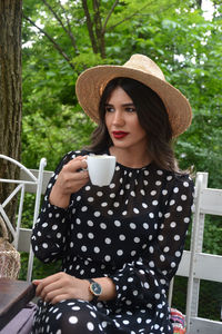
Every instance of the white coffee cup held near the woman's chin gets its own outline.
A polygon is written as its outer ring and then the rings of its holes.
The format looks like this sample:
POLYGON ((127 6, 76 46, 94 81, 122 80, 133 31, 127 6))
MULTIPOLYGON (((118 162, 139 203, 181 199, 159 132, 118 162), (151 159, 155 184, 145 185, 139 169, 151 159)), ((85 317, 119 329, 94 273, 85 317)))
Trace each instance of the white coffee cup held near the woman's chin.
POLYGON ((90 180, 94 186, 109 186, 112 180, 115 157, 108 155, 90 155, 87 157, 90 180))

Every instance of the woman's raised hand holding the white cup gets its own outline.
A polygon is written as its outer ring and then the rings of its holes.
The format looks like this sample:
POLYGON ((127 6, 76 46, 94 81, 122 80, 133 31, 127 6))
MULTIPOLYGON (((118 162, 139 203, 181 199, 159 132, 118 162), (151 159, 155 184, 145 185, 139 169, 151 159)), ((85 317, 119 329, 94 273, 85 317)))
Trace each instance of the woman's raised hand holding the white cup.
POLYGON ((49 200, 52 205, 67 208, 70 196, 89 181, 89 173, 79 169, 87 168, 85 157, 79 156, 63 166, 52 187, 49 200))

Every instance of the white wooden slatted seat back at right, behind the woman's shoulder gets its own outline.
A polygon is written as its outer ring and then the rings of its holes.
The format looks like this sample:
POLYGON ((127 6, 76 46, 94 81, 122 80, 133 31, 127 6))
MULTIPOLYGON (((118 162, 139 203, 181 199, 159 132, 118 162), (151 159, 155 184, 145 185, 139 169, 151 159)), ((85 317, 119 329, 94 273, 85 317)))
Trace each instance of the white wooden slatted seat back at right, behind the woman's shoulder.
MULTIPOLYGON (((186 333, 222 334, 222 323, 198 316, 200 281, 222 283, 222 255, 202 253, 204 216, 222 216, 222 189, 208 188, 208 173, 198 173, 195 179, 194 213, 191 250, 184 250, 176 275, 188 277, 186 333)), ((173 282, 169 303, 172 303, 173 282)), ((210 306, 209 306, 210 307, 210 306)))

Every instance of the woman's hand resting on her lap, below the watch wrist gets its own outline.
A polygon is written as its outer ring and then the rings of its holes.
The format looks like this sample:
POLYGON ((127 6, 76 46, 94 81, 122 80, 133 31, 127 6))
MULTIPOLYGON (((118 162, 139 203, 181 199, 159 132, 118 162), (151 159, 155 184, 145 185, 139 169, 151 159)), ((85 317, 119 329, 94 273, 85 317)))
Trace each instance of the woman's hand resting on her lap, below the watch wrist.
POLYGON ((75 278, 62 272, 43 279, 34 279, 33 284, 37 285, 36 295, 51 304, 71 298, 92 299, 88 281, 75 278))

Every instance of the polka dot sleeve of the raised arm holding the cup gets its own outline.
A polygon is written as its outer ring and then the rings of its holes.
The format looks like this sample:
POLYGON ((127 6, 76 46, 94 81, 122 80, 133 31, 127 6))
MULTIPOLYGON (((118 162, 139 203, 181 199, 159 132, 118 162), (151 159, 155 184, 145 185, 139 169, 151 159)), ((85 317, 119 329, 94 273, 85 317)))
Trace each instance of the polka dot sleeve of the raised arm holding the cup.
POLYGON ((44 263, 59 259, 64 252, 67 222, 69 220, 68 209, 51 205, 49 196, 63 165, 74 157, 73 153, 67 154, 57 167, 48 184, 41 212, 32 230, 31 244, 34 255, 44 263))

